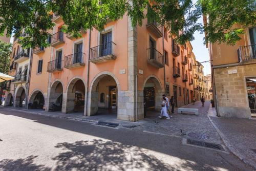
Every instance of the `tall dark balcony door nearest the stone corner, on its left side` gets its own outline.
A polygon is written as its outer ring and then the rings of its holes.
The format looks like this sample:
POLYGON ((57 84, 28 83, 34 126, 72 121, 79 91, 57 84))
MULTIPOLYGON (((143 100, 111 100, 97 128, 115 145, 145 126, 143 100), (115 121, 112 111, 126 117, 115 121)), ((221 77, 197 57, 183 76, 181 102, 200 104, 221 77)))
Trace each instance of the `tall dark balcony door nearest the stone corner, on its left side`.
POLYGON ((111 55, 111 49, 112 49, 112 32, 105 33, 101 35, 101 56, 107 56, 111 55))

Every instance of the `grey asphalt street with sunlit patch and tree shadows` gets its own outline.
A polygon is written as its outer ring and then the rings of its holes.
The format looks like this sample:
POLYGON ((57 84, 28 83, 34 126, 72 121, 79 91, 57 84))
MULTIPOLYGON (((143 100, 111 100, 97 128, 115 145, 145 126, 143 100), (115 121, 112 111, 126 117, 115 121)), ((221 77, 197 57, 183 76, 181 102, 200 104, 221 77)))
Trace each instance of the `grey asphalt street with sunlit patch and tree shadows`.
POLYGON ((0 170, 252 170, 182 138, 0 109, 0 170))

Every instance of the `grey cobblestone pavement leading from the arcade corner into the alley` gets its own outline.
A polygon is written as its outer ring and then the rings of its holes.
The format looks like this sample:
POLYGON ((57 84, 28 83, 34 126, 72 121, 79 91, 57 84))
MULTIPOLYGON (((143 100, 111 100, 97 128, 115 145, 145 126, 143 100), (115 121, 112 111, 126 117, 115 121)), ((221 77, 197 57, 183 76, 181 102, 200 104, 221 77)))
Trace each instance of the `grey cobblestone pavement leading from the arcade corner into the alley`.
MULTIPOLYGON (((152 119, 148 123, 135 127, 135 129, 144 132, 162 133, 170 136, 223 144, 219 134, 207 117, 209 104, 210 102, 206 101, 204 107, 201 106, 201 102, 196 102, 195 105, 188 104, 187 106, 183 106, 183 108, 199 109, 199 115, 178 114, 176 109, 175 114, 170 119, 152 119), (181 130, 186 135, 182 135, 181 130)), ((155 113, 156 116, 159 116, 159 114, 155 113)))

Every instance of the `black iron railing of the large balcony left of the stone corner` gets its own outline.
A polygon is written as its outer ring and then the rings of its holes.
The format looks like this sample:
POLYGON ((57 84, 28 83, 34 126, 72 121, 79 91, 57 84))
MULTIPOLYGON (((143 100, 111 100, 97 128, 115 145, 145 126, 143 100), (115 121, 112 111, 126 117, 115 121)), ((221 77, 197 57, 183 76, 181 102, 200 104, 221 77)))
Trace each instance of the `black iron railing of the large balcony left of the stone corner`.
POLYGON ((113 41, 91 48, 90 59, 96 59, 103 56, 116 56, 116 44, 113 41))

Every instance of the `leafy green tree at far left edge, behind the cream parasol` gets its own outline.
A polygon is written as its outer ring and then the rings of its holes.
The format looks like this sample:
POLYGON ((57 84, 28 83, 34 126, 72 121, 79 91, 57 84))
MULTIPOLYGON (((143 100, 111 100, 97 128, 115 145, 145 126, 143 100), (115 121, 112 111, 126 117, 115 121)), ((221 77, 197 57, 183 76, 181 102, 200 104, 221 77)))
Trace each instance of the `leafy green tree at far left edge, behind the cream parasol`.
MULTIPOLYGON (((4 74, 8 74, 9 66, 10 66, 10 55, 11 55, 11 47, 10 43, 4 42, 0 40, 0 72, 4 74)), ((3 88, 5 86, 5 82, 0 83, 0 105, 2 104, 2 94, 3 88)))

